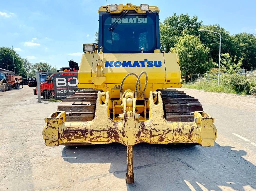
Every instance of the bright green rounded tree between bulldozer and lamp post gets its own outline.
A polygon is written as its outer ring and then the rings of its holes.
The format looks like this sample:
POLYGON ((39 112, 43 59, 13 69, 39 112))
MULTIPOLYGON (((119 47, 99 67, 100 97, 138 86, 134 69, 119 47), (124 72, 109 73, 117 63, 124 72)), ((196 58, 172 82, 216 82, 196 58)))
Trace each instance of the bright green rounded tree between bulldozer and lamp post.
POLYGON ((204 47, 198 36, 180 36, 175 46, 180 58, 180 70, 186 82, 189 74, 205 73, 213 66, 211 59, 208 58, 210 50, 204 47))

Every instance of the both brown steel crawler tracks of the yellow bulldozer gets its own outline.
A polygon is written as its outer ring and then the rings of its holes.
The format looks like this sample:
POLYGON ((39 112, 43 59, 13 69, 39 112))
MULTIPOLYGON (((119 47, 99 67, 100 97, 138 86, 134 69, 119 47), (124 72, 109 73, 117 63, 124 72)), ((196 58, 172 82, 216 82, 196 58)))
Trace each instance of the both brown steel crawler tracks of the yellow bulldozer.
MULTIPOLYGON (((88 89, 61 100, 58 111, 66 112, 66 121, 91 121, 95 115, 97 93, 88 89)), ((194 111, 203 111, 198 99, 175 89, 158 89, 162 93, 164 115, 167 121, 193 121, 194 111)))

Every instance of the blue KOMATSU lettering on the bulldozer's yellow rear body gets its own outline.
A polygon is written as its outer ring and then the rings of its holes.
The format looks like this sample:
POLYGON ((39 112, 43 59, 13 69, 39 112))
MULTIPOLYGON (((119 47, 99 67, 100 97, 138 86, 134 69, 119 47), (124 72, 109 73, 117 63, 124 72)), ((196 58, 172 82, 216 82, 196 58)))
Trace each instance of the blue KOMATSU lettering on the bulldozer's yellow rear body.
POLYGON ((161 67, 162 66, 162 61, 152 61, 152 60, 147 60, 144 59, 144 61, 106 61, 105 62, 105 67, 161 67))

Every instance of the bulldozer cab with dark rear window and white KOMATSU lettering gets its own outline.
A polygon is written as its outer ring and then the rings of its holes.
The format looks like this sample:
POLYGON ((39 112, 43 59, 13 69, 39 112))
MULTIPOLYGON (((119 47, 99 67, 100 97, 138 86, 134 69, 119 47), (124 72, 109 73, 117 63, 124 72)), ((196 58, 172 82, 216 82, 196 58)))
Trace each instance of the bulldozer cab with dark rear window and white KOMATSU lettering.
POLYGON ((104 53, 141 53, 142 48, 144 53, 154 53, 160 49, 157 7, 142 11, 132 4, 121 4, 116 5, 121 11, 111 11, 110 6, 99 10, 99 47, 104 53))

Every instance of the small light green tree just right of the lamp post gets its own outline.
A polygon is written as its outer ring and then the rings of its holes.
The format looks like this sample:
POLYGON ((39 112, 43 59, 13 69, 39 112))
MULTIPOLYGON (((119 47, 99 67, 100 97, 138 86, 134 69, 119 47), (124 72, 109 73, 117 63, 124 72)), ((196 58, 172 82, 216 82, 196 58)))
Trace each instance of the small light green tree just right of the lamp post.
POLYGON ((237 56, 230 56, 229 53, 221 54, 221 71, 226 73, 234 73, 239 70, 242 65, 243 58, 237 60, 237 56))

